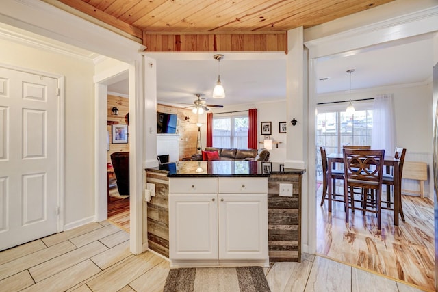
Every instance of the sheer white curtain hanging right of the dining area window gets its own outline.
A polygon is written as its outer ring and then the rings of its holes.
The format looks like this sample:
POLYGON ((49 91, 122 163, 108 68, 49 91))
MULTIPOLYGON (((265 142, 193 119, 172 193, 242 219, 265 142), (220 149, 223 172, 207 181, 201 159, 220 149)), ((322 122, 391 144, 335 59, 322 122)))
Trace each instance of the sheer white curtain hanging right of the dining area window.
POLYGON ((385 149, 385 155, 394 155, 394 149, 396 148, 396 122, 392 94, 383 94, 374 98, 372 148, 385 149))

